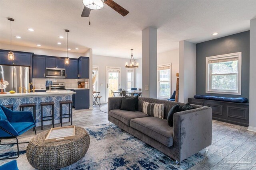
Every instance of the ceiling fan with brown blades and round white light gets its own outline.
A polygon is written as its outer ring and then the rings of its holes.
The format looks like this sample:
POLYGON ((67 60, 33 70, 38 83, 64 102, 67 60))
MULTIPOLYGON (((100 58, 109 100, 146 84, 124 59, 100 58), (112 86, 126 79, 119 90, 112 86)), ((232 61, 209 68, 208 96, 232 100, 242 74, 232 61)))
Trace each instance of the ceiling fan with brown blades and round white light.
POLYGON ((104 7, 104 3, 122 16, 126 16, 129 13, 129 11, 118 5, 113 0, 82 0, 82 2, 84 4, 84 10, 81 17, 90 16, 91 10, 101 10, 104 7))

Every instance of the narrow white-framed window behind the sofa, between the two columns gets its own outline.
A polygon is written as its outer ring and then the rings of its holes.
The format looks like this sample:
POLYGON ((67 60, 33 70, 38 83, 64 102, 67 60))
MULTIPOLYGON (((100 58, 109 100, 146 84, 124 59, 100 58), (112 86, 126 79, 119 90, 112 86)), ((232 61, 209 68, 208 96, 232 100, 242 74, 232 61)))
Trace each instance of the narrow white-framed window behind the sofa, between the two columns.
POLYGON ((171 66, 161 65, 157 67, 157 97, 158 98, 170 98, 171 92, 171 66))

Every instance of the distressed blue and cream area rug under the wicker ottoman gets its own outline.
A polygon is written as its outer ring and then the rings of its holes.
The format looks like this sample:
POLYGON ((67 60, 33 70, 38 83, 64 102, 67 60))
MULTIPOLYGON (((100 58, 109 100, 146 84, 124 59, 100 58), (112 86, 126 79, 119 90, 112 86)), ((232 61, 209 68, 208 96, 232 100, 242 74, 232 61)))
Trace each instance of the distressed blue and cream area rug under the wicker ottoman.
MULTIPOLYGON (((205 157, 194 154, 178 166, 166 154, 126 133, 116 125, 96 125, 85 128, 90 134, 90 147, 78 162, 62 170, 187 170, 205 157)), ((1 146, 0 158, 15 154, 16 146, 1 146), (5 154, 2 154, 2 151, 5 154)), ((33 170, 26 159, 25 147, 17 159, 20 170, 33 170)), ((8 162, 8 161, 6 161, 8 162)), ((2 162, 0 163, 2 164, 2 162)))

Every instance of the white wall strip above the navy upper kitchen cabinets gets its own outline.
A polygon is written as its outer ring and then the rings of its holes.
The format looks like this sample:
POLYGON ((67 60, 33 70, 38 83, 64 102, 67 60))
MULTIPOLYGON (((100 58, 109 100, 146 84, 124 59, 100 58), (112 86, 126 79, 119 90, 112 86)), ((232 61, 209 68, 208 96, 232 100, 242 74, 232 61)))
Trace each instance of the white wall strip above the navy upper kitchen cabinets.
MULTIPOLYGON (((3 50, 10 50, 10 44, 0 44, 0 49, 3 50)), ((43 48, 36 48, 36 47, 25 47, 21 45, 12 45, 12 51, 23 51, 23 52, 30 52, 37 55, 48 55, 48 56, 55 56, 55 57, 66 57, 66 51, 59 51, 59 50, 51 50, 51 49, 43 49, 43 48)), ((84 53, 74 53, 68 52, 69 58, 78 59, 80 56, 84 56, 84 53)))

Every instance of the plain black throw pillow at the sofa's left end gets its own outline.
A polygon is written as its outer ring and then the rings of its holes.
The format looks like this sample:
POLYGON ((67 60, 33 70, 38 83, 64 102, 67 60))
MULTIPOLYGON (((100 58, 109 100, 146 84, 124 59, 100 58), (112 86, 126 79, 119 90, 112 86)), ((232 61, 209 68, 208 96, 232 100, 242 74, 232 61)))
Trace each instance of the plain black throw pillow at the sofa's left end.
POLYGON ((120 110, 136 111, 137 105, 138 105, 138 98, 125 96, 125 97, 122 97, 120 110))

